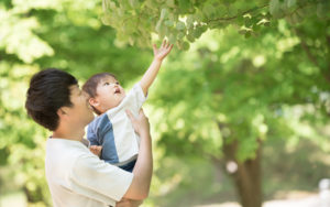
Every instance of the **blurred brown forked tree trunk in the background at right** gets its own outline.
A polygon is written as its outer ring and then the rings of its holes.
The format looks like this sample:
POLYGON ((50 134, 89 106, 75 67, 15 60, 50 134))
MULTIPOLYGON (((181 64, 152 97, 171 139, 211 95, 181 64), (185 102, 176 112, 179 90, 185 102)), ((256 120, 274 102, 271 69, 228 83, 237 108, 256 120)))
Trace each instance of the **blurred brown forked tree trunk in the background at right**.
POLYGON ((231 163, 234 166, 233 172, 229 172, 229 174, 233 177, 241 205, 243 207, 261 207, 261 141, 255 159, 246 160, 243 163, 238 162, 235 157, 238 145, 238 141, 223 144, 224 165, 228 166, 231 163))

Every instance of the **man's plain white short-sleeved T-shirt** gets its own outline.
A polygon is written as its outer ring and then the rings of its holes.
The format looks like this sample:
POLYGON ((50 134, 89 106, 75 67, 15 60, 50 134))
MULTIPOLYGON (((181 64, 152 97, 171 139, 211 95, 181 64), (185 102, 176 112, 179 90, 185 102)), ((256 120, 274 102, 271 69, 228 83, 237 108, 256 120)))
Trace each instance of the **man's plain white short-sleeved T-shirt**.
POLYGON ((66 139, 47 140, 45 170, 54 207, 116 206, 133 179, 81 142, 66 139))

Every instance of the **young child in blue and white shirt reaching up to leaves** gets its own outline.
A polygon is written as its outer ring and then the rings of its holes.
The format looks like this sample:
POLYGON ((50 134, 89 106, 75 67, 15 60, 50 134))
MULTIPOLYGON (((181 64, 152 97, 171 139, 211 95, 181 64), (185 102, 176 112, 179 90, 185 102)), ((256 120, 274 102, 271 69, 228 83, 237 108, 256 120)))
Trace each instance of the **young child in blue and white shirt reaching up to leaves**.
POLYGON ((139 115, 163 59, 173 45, 165 40, 161 48, 153 45, 154 59, 140 83, 125 95, 116 76, 110 73, 90 77, 82 90, 89 95, 89 105, 98 117, 88 124, 90 151, 108 163, 132 172, 139 153, 140 138, 135 134, 127 110, 139 115))

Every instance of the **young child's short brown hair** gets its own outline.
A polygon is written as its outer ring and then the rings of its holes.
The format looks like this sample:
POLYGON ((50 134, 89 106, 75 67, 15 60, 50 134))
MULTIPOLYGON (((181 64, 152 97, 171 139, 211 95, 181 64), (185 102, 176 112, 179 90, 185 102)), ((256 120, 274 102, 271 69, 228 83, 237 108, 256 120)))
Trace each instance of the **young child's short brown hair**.
MULTIPOLYGON (((108 76, 111 76, 114 79, 117 79, 117 77, 113 74, 107 72, 99 73, 88 78, 88 80, 82 86, 82 90, 88 94, 89 98, 95 98, 97 96, 97 87, 99 83, 108 76)), ((97 115, 101 115, 101 112, 97 110, 95 107, 92 107, 92 109, 97 115)))

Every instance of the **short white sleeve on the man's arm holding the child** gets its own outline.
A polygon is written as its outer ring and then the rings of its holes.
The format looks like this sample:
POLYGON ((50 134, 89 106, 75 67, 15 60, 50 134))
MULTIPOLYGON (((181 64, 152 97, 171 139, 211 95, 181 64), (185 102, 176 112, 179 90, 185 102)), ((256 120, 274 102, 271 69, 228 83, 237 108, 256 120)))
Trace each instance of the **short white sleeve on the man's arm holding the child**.
POLYGON ((108 164, 91 153, 77 159, 69 176, 74 192, 112 206, 127 193, 132 179, 132 173, 108 164))

